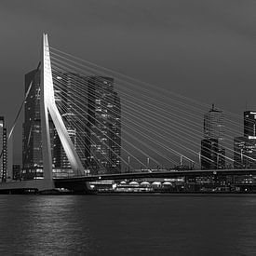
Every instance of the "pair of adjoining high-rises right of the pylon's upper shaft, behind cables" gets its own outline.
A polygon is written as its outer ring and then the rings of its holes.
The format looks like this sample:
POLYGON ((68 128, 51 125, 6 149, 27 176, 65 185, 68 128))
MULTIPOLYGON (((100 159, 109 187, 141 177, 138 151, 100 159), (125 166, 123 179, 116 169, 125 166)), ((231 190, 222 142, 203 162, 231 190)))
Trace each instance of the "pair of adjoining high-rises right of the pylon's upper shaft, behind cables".
MULTIPOLYGON (((62 119, 84 168, 91 173, 121 171, 121 104, 114 79, 80 74, 59 74, 62 119), (77 94, 79 89, 79 95, 77 94)), ((55 168, 70 168, 57 133, 54 139, 55 168)))

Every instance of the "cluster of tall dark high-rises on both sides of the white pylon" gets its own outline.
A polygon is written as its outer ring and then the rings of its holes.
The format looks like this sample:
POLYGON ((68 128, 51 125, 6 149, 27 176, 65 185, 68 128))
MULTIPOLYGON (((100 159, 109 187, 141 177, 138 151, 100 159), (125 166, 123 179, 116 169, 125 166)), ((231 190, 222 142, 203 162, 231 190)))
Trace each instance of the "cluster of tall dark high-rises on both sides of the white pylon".
MULTIPOLYGON (((111 77, 74 73, 53 75, 55 101, 74 149, 85 169, 94 173, 121 171, 121 104, 111 77)), ((40 72, 25 75, 23 177, 43 176, 40 72)), ((49 116, 52 163, 55 172, 71 169, 59 135, 49 116)))

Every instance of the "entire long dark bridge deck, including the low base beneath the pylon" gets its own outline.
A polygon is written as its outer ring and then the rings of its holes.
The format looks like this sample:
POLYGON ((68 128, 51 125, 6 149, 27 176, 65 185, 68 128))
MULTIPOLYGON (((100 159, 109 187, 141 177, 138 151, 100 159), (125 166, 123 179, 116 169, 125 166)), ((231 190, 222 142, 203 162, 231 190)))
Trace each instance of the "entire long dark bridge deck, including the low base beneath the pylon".
POLYGON ((17 194, 30 191, 44 192, 54 188, 66 188, 74 192, 90 193, 88 182, 94 181, 120 181, 142 178, 177 178, 177 177, 196 177, 196 176, 228 176, 228 175, 255 175, 256 168, 251 169, 214 169, 214 170, 146 170, 131 173, 87 175, 70 178, 54 178, 50 183, 45 179, 28 181, 0 182, 0 194, 17 194), (51 187, 51 186, 50 186, 51 187))

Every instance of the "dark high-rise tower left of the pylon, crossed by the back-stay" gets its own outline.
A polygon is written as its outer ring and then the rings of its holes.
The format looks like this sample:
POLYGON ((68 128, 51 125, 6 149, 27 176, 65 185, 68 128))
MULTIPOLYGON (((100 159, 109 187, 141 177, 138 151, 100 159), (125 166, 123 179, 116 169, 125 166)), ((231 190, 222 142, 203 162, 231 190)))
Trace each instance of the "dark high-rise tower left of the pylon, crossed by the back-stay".
MULTIPOLYGON (((43 155, 40 118, 40 71, 25 74, 25 93, 32 87, 24 106, 22 165, 23 178, 43 177, 43 155)), ((54 126, 49 121, 50 140, 53 144, 54 126)))

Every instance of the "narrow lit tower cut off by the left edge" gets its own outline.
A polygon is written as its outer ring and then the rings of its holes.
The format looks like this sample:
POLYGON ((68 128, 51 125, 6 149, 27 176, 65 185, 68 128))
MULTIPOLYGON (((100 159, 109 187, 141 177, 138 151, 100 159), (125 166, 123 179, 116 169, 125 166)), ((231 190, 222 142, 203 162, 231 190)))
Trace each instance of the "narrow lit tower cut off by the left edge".
POLYGON ((7 180, 7 128, 4 116, 0 116, 0 154, 1 181, 5 182, 7 180))

